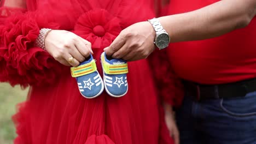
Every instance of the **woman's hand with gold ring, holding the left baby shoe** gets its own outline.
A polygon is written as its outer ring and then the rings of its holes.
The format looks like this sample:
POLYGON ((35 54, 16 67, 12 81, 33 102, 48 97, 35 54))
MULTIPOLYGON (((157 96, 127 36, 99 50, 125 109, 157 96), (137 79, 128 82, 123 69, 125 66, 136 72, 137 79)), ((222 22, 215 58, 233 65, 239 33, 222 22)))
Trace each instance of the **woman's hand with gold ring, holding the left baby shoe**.
POLYGON ((90 53, 93 53, 89 41, 63 30, 49 32, 45 38, 45 49, 56 61, 72 67, 77 67, 90 56, 90 53), (70 62, 72 57, 73 62, 70 62))

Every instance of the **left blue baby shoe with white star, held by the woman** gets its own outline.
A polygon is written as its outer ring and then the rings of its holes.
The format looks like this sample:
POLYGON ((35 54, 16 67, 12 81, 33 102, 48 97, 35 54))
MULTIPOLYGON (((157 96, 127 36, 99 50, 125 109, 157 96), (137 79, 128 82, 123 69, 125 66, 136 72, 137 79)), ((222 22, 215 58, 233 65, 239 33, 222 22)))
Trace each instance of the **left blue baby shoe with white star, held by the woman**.
POLYGON ((71 75, 77 79, 79 91, 83 97, 96 98, 103 92, 103 81, 100 74, 98 74, 92 55, 88 61, 80 63, 78 67, 72 67, 71 75))

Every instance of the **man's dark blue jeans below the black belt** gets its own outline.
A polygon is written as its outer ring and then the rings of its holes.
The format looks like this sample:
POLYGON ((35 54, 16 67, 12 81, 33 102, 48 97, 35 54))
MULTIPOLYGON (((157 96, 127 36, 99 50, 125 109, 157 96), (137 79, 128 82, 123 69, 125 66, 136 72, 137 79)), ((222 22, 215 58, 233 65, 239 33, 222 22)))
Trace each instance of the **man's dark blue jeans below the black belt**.
POLYGON ((256 92, 200 102, 186 95, 176 116, 181 144, 256 144, 256 92))

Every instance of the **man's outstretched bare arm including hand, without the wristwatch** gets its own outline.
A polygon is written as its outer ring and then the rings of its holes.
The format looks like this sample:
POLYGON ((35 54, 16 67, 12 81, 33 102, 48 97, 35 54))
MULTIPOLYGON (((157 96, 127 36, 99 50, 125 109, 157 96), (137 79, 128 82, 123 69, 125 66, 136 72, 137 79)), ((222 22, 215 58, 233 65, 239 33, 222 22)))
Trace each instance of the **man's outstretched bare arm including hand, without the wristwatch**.
MULTIPOLYGON (((159 17, 171 43, 202 40, 246 27, 256 14, 256 0, 223 0, 188 13, 159 17)), ((113 58, 136 61, 155 49, 155 31, 149 22, 124 29, 105 49, 113 58)))

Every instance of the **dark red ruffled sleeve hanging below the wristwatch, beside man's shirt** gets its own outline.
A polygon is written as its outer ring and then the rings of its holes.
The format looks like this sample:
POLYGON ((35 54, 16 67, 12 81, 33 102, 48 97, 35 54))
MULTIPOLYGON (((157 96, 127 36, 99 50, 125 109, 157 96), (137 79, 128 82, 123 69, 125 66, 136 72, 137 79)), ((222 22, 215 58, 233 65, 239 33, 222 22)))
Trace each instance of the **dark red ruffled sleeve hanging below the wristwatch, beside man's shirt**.
POLYGON ((180 106, 184 97, 183 84, 174 74, 166 50, 156 50, 149 59, 162 101, 172 106, 180 106))

